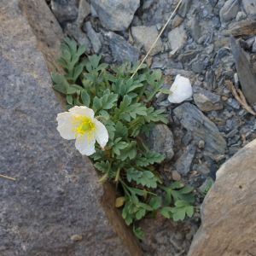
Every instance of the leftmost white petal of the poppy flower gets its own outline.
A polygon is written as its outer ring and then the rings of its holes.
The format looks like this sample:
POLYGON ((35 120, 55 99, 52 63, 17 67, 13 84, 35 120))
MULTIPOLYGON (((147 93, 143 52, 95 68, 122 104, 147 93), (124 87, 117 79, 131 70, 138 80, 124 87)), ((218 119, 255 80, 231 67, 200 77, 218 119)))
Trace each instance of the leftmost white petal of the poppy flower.
POLYGON ((61 137, 67 139, 67 140, 72 140, 75 138, 75 132, 72 132, 71 128, 76 129, 76 125, 73 125, 70 119, 73 119, 73 114, 72 113, 58 113, 57 116, 57 122, 58 122, 58 127, 57 130, 60 132, 61 137))

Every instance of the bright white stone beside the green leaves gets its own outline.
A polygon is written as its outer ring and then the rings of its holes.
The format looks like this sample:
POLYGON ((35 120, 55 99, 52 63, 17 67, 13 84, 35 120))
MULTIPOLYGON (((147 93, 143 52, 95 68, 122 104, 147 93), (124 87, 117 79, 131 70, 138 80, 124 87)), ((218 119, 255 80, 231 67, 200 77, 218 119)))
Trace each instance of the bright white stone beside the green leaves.
POLYGON ((172 103, 180 103, 192 96, 192 87, 189 79, 177 75, 172 87, 172 94, 168 96, 168 101, 172 103))

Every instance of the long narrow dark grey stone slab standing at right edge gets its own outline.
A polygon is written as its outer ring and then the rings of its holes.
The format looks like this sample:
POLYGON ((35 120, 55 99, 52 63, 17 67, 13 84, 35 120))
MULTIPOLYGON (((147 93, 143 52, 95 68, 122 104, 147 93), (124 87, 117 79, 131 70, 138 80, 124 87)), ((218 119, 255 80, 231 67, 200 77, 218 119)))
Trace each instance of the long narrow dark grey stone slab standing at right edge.
POLYGON ((244 55, 239 44, 236 43, 233 36, 231 39, 231 51, 236 62, 236 72, 239 76, 241 90, 246 96, 247 101, 254 105, 256 102, 256 75, 253 72, 246 55, 244 55))

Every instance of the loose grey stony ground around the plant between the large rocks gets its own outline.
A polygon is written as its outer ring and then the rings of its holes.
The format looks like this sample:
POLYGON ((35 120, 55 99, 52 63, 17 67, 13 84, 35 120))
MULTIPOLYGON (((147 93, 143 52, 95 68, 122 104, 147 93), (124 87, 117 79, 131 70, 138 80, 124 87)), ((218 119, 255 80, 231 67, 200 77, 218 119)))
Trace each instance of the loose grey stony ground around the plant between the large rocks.
MULTIPOLYGON (((125 59, 141 61, 177 6, 173 0, 46 2, 68 36, 87 44, 88 54, 102 54, 112 66, 125 59)), ((160 169, 164 183, 181 180, 194 186, 199 207, 204 196, 198 190, 215 180, 218 168, 256 137, 253 114, 242 108, 224 82, 231 80, 241 89, 256 111, 255 34, 253 0, 183 0, 147 60, 152 71, 160 68, 166 75, 166 88, 177 74, 192 84, 193 95, 186 102, 173 104, 161 94, 154 98, 154 107, 165 109, 170 123, 169 129, 157 125, 150 137, 163 140, 157 149, 151 148, 168 160, 160 169)), ((143 240, 146 254, 185 255, 201 224, 200 213, 186 220, 180 232, 173 224, 175 236, 163 234, 166 224, 160 223, 159 230, 151 230, 154 237, 143 240)))

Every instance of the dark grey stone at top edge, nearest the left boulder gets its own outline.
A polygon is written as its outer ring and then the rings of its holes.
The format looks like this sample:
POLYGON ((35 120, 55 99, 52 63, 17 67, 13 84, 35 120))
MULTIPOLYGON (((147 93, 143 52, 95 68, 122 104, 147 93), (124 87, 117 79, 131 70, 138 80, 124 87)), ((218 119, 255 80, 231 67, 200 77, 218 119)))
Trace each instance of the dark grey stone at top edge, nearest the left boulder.
POLYGON ((74 21, 79 15, 79 4, 76 0, 51 0, 51 9, 61 24, 74 21))

